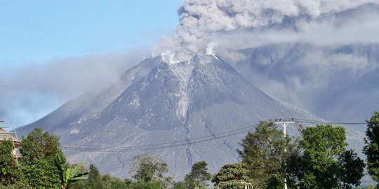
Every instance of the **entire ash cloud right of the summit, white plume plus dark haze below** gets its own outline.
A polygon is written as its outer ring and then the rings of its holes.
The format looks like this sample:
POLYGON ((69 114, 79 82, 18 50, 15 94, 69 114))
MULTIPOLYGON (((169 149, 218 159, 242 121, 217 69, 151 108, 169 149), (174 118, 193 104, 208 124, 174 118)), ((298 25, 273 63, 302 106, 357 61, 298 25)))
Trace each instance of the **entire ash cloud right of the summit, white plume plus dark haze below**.
POLYGON ((155 49, 168 62, 212 48, 253 85, 322 118, 361 122, 379 109, 368 87, 379 75, 378 0, 185 0, 178 15, 175 36, 155 49))

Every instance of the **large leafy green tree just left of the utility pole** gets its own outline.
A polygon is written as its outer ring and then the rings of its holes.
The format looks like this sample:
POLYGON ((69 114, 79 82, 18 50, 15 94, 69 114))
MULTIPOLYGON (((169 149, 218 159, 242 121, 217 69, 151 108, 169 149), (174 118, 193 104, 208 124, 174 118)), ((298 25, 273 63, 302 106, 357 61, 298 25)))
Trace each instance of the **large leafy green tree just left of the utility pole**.
POLYGON ((255 132, 249 132, 242 140, 241 146, 239 155, 256 188, 284 188, 284 162, 293 151, 291 138, 277 130, 274 123, 261 121, 255 125, 255 132))

